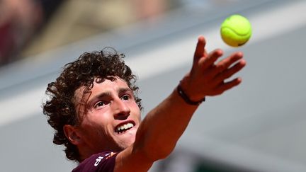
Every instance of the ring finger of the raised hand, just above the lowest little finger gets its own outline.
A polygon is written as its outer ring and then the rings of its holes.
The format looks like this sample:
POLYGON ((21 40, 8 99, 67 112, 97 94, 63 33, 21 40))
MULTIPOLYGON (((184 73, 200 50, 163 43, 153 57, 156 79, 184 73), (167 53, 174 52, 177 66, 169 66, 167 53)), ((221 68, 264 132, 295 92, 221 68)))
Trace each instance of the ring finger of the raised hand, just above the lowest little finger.
POLYGON ((236 74, 238 71, 240 71, 245 66, 246 66, 246 61, 244 59, 241 59, 237 64, 234 64, 234 66, 217 74, 217 76, 215 76, 215 82, 220 83, 224 81, 225 79, 229 79, 231 76, 236 74))

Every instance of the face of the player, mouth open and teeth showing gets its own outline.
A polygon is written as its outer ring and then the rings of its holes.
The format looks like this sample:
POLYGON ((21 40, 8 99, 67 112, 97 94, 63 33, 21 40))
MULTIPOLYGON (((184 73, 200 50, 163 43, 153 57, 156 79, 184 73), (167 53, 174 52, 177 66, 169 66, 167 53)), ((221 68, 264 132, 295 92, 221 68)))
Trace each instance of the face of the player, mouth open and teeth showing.
POLYGON ((83 91, 81 87, 74 93, 82 119, 77 128, 82 146, 100 152, 120 151, 133 144, 140 125, 140 108, 128 84, 115 77, 113 81, 95 81, 89 93, 83 91))

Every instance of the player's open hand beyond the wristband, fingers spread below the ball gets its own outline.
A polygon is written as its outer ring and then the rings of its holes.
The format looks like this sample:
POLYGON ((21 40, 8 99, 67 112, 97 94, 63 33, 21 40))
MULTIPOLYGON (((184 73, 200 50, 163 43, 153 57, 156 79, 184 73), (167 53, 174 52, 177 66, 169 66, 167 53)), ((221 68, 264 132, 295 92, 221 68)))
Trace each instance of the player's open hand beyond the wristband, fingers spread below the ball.
POLYGON ((191 71, 181 81, 183 91, 192 101, 199 101, 205 96, 216 96, 241 83, 241 78, 225 81, 240 71, 246 62, 242 52, 234 52, 229 57, 222 57, 220 49, 206 52, 205 38, 200 36, 196 45, 191 71))

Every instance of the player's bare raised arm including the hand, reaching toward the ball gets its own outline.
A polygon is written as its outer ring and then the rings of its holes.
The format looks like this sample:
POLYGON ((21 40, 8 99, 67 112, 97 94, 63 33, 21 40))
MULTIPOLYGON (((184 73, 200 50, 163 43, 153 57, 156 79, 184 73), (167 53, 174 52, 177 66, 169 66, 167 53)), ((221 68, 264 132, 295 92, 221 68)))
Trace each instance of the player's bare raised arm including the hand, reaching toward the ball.
MULTIPOLYGON (((217 62, 222 53, 222 50, 207 53, 205 38, 198 38, 191 71, 180 82, 182 91, 191 101, 219 95, 242 81, 236 78, 225 82, 245 66, 242 52, 217 62)), ((166 158, 197 108, 198 105, 186 103, 175 88, 146 115, 137 130, 135 143, 118 154, 115 171, 148 171, 154 161, 166 158)))

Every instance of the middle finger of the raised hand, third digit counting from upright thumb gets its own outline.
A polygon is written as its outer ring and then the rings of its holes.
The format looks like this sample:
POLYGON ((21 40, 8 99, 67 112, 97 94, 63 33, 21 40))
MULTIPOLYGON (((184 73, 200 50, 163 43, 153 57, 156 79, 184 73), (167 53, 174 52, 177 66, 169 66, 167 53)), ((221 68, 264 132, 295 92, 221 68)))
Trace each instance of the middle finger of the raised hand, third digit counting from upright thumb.
POLYGON ((243 54, 242 52, 235 52, 234 54, 230 55, 229 57, 222 59, 220 62, 216 64, 216 74, 224 71, 228 67, 230 67, 232 64, 237 62, 237 60, 242 59, 243 54))

